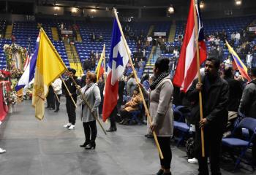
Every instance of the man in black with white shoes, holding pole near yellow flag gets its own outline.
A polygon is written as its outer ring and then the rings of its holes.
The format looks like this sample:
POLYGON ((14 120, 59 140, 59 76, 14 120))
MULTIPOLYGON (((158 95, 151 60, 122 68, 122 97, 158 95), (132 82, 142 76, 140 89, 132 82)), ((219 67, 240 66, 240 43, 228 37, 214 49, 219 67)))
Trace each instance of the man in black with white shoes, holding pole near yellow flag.
MULTIPOLYGON (((70 76, 72 76, 73 79, 75 79, 75 82, 78 85, 80 85, 80 82, 78 81, 78 77, 75 76, 75 73, 76 73, 75 69, 69 69, 70 76)), ((64 90, 64 93, 66 96, 66 108, 67 108, 67 115, 69 117, 69 123, 67 123, 67 125, 64 125, 63 127, 68 128, 69 130, 72 130, 72 129, 75 129, 76 116, 75 116, 75 104, 73 103, 70 96, 72 96, 72 98, 74 99, 74 101, 76 103, 78 95, 76 94, 75 83, 72 81, 71 77, 69 77, 64 82, 66 83, 67 88, 69 90, 69 92, 68 92, 64 86, 64 83, 62 83, 62 89, 64 90)))

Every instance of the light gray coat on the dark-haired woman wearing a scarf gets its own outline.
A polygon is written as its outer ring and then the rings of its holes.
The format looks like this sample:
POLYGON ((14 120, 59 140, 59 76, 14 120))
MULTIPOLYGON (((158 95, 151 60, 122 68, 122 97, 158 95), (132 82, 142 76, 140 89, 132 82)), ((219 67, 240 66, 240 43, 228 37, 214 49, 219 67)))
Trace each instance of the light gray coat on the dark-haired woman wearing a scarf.
POLYGON ((173 83, 165 77, 149 95, 149 113, 157 125, 157 136, 173 136, 173 83))

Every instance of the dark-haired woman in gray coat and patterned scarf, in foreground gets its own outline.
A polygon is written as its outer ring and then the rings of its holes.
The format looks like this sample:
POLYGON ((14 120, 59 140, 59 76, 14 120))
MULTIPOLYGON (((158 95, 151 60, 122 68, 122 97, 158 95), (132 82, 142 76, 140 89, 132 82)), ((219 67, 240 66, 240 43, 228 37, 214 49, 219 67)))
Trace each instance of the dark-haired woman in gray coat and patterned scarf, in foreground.
POLYGON ((149 96, 149 113, 152 117, 151 131, 155 131, 162 150, 163 160, 157 175, 170 175, 172 152, 170 138, 173 136, 173 83, 170 80, 169 59, 157 58, 154 65, 154 79, 150 91, 143 88, 149 96))

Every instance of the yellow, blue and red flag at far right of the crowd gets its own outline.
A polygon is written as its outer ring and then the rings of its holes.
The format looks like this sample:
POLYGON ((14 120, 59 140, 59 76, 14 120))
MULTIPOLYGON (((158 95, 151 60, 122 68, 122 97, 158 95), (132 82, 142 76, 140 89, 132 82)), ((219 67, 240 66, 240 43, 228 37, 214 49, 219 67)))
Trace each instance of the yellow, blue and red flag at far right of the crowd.
POLYGON ((230 51, 230 54, 232 55, 232 57, 236 63, 238 70, 240 71, 241 76, 244 77, 245 79, 247 79, 248 82, 250 82, 251 78, 249 77, 249 75, 247 73, 247 68, 244 65, 243 61, 241 61, 241 59, 236 54, 235 50, 233 50, 233 48, 230 46, 230 44, 228 44, 227 40, 226 40, 226 44, 227 44, 228 50, 230 51))

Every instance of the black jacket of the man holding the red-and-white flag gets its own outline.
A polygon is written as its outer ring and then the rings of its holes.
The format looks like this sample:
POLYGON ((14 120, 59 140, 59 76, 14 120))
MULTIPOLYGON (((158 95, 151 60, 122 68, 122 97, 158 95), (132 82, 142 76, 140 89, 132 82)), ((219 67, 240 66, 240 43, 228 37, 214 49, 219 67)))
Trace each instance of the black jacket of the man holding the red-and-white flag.
MULTIPOLYGON (((192 102, 192 123, 198 127, 200 121, 199 95, 195 89, 198 79, 195 79, 187 92, 187 98, 192 102)), ((203 117, 207 118, 210 131, 223 132, 227 125, 227 102, 229 96, 229 87, 227 82, 217 77, 211 84, 207 77, 202 77, 203 90, 203 117)))

